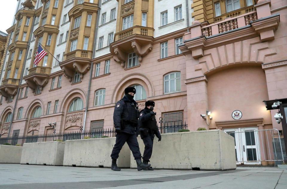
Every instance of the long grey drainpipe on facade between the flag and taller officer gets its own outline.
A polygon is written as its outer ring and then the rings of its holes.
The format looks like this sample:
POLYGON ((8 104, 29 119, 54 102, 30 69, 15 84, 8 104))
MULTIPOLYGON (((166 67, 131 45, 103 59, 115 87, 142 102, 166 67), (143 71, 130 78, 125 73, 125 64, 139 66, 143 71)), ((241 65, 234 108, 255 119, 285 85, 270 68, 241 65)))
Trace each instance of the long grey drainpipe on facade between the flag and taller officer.
MULTIPOLYGON (((99 10, 101 7, 101 3, 99 1, 99 10)), ((97 30, 98 30, 98 23, 99 23, 99 13, 97 14, 97 24, 96 24, 96 29, 95 29, 95 38, 94 38, 94 47, 93 47, 93 55, 92 59, 95 57, 95 52, 96 52, 96 40, 97 40, 97 30)), ((87 93, 87 102, 86 102, 86 110, 85 110, 85 117, 84 117, 84 126, 83 126, 83 133, 85 132, 85 126, 86 126, 86 118, 87 118, 87 112, 88 112, 88 104, 89 104, 89 97, 90 97, 90 90, 91 90, 91 81, 92 81, 92 76, 93 76, 93 63, 91 63, 91 68, 90 68, 90 79, 89 79, 89 85, 88 85, 88 93, 87 93)), ((84 138, 84 135, 83 135, 84 138)))

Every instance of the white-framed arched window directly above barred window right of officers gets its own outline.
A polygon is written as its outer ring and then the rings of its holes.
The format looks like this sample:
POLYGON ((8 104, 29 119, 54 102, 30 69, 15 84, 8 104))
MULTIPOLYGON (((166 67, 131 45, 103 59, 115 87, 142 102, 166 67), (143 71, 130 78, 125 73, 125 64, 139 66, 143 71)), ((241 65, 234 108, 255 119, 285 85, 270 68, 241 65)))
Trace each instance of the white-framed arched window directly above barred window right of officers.
POLYGON ((172 72, 164 76, 164 93, 172 93, 180 90, 180 72, 172 72))

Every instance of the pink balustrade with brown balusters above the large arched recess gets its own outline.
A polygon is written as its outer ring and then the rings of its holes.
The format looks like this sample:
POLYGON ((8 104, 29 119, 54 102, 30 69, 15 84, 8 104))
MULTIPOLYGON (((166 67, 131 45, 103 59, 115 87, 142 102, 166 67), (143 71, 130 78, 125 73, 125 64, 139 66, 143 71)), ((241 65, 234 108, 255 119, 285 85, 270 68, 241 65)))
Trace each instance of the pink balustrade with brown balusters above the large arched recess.
POLYGON ((251 21, 257 20, 256 11, 250 13, 242 14, 233 18, 225 19, 221 22, 216 22, 210 25, 203 26, 201 28, 202 35, 205 37, 210 37, 215 34, 224 33, 236 28, 240 28, 246 25, 249 25, 251 21))

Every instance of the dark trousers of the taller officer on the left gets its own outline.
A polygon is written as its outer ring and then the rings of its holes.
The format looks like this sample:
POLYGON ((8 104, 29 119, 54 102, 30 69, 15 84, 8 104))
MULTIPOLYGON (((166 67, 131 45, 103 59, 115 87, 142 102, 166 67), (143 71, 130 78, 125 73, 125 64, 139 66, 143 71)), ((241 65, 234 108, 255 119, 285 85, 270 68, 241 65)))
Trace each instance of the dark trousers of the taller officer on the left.
POLYGON ((141 152, 138 146, 137 135, 123 132, 116 135, 116 143, 112 150, 111 158, 117 159, 119 157, 120 150, 125 143, 128 143, 129 149, 131 149, 134 158, 141 159, 141 152))

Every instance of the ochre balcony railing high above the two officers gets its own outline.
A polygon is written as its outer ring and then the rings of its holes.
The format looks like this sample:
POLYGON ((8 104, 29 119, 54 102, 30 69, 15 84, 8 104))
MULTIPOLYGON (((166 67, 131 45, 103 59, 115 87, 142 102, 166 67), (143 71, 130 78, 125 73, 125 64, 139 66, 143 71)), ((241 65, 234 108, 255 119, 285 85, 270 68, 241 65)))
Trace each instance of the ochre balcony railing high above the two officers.
POLYGON ((145 36, 153 36, 153 28, 147 28, 143 26, 133 26, 131 28, 128 28, 126 30, 120 31, 115 34, 115 40, 121 40, 126 37, 129 37, 133 34, 140 34, 140 35, 145 35, 145 36))

